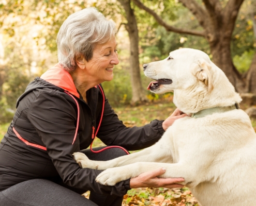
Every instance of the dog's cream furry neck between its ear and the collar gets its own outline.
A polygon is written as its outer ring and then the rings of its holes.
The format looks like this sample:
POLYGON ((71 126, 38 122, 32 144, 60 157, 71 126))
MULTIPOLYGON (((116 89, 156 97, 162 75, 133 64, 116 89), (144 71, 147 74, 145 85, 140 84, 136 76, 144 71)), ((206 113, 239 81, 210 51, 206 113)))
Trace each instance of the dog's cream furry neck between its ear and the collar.
POLYGON ((176 89, 173 102, 180 111, 190 114, 208 108, 232 106, 242 100, 220 69, 214 74, 213 85, 214 89, 211 92, 200 84, 176 89))

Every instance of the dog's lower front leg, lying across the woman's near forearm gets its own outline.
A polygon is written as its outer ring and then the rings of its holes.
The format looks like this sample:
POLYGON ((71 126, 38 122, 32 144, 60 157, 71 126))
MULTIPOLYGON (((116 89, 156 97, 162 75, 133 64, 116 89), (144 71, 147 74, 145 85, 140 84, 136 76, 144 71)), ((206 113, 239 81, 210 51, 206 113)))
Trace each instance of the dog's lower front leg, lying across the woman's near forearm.
MULTIPOLYGON (((194 174, 192 171, 194 169, 189 168, 189 165, 183 165, 181 163, 168 164, 168 163, 156 163, 156 162, 137 162, 130 165, 125 165, 122 167, 109 168, 102 171, 98 175, 96 181, 104 185, 115 185, 117 182, 127 180, 129 178, 137 177, 146 171, 152 171, 157 168, 166 168, 163 175, 159 176, 161 178, 184 178, 185 182, 181 183, 186 185, 194 182, 194 174)), ((200 178, 197 178, 197 181, 200 178)))

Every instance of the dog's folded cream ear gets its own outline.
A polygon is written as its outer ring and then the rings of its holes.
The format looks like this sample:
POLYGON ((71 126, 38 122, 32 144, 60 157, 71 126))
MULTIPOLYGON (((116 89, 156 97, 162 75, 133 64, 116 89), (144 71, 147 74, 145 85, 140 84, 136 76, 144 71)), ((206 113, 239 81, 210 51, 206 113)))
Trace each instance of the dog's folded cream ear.
POLYGON ((198 80, 205 83, 208 87, 208 92, 213 90, 213 81, 212 81, 212 74, 211 69, 212 66, 206 62, 204 59, 200 59, 197 62, 197 66, 193 69, 193 74, 198 78, 198 80))

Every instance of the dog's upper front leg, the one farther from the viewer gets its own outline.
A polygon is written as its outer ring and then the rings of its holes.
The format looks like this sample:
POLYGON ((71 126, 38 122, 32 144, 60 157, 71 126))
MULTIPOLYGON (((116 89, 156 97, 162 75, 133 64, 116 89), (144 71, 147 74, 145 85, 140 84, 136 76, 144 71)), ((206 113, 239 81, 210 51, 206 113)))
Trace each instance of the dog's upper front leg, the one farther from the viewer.
POLYGON ((168 162, 172 163, 172 153, 170 148, 162 145, 161 142, 148 147, 139 152, 132 153, 130 155, 115 158, 109 161, 93 161, 89 160, 84 153, 75 152, 73 153, 74 159, 82 168, 91 168, 105 170, 112 167, 119 167, 135 162, 168 162))

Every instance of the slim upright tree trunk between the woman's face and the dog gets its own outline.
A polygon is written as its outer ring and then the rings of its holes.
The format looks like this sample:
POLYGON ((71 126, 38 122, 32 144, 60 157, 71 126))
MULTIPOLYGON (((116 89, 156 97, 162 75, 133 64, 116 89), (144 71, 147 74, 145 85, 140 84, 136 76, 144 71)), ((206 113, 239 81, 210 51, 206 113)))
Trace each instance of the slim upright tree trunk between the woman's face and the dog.
POLYGON ((139 63, 139 31, 135 15, 130 6, 130 0, 118 0, 124 7, 127 24, 126 30, 130 39, 130 66, 131 66, 131 84, 132 99, 131 104, 137 105, 147 101, 145 90, 142 87, 139 63))

